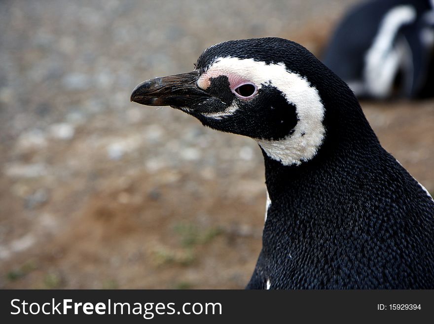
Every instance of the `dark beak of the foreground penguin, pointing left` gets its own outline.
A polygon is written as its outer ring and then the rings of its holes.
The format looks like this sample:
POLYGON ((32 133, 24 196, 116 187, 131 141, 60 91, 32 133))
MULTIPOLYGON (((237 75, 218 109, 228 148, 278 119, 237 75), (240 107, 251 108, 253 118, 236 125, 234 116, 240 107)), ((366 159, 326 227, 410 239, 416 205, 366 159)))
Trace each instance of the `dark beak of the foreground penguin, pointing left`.
POLYGON ((198 71, 157 77, 136 86, 131 101, 147 106, 190 107, 210 96, 196 84, 198 71))

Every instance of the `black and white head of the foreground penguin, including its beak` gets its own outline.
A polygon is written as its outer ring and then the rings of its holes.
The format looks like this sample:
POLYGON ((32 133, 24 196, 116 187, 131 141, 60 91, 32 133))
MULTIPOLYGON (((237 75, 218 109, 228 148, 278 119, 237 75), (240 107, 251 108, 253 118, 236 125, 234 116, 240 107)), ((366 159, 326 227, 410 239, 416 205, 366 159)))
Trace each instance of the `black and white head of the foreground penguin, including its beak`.
POLYGON ((251 137, 284 165, 317 154, 327 136, 325 99, 336 95, 333 89, 354 97, 312 53, 282 38, 218 43, 195 66, 140 83, 131 100, 171 106, 205 126, 251 137))

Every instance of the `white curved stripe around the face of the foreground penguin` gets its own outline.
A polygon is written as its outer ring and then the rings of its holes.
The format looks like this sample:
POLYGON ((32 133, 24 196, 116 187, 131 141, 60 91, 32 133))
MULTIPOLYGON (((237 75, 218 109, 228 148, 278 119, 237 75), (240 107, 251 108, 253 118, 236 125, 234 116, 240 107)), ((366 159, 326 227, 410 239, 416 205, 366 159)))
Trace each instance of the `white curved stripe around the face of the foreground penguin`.
MULTIPOLYGON (((295 106, 299 120, 291 135, 280 141, 256 139, 270 158, 284 165, 298 165, 316 155, 325 136, 325 108, 318 90, 305 77, 288 71, 284 63, 266 64, 236 57, 219 58, 207 73, 217 71, 238 74, 256 84, 258 89, 263 85, 271 85, 285 96, 289 104, 295 106)), ((224 111, 204 116, 221 119, 229 117, 237 109, 234 102, 224 111)))

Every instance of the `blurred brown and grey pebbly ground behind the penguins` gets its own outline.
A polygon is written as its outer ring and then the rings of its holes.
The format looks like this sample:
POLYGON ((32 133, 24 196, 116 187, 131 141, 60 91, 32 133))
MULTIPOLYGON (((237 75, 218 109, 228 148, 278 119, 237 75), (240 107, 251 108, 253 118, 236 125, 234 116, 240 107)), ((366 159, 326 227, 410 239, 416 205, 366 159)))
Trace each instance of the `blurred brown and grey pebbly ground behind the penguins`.
MULTIPOLYGON (((265 212, 257 144, 131 91, 228 39, 319 56, 356 2, 0 1, 0 288, 244 288, 265 212)), ((434 101, 361 104, 434 192, 434 101)))

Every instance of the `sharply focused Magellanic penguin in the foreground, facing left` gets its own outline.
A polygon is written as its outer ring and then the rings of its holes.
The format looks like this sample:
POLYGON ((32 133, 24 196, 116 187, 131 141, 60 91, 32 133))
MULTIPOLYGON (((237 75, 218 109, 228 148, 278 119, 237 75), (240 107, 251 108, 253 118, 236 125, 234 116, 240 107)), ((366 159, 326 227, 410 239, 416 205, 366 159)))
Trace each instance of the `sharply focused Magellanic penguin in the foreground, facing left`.
POLYGON ((247 288, 434 288, 434 201, 378 142, 351 89, 282 38, 211 46, 131 100, 253 138, 268 191, 247 288))

